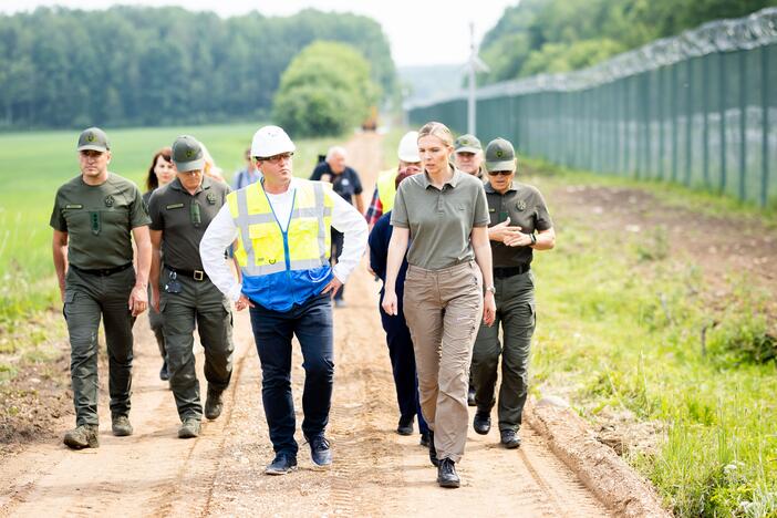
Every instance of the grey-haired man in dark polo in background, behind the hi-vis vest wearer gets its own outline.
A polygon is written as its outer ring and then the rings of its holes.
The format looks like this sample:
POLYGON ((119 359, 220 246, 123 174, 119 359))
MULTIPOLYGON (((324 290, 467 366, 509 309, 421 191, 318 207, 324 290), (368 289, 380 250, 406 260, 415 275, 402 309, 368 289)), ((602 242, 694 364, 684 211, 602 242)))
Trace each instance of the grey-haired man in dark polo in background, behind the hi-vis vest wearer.
MULTIPOLYGON (((341 198, 356 207, 360 214, 364 214, 364 201, 362 200, 362 182, 359 173, 345 165, 348 152, 344 147, 332 146, 327 152, 327 158, 313 169, 310 175, 311 180, 328 182, 332 184, 334 190, 341 198)), ((343 234, 332 228, 332 262, 336 263, 343 251, 343 234)), ((335 308, 345 305, 343 300, 343 289, 334 296, 335 308)))

